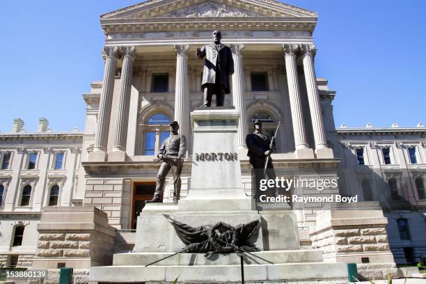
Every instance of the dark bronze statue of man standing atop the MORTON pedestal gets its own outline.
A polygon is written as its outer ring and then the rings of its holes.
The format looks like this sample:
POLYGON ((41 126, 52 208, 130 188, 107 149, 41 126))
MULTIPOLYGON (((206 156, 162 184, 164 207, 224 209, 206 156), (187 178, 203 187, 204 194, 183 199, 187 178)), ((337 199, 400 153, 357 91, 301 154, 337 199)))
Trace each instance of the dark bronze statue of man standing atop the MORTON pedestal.
POLYGON ((234 74, 234 60, 229 47, 221 44, 220 31, 213 32, 213 43, 197 48, 196 56, 203 58, 203 81, 201 90, 204 92, 203 107, 210 107, 212 95, 216 95, 216 107, 223 107, 225 94, 230 93, 229 76, 234 74))

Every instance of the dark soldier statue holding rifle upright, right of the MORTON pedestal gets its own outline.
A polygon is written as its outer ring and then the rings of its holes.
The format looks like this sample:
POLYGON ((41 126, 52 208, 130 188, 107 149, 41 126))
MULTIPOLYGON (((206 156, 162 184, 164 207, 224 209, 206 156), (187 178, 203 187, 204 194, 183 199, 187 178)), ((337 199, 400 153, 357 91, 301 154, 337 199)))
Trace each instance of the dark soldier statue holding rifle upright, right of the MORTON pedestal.
MULTIPOLYGON (((254 127, 255 131, 246 136, 246 145, 248 148, 247 156, 250 157, 250 164, 253 166, 255 173, 255 199, 259 200, 260 180, 265 178, 265 173, 270 180, 275 180, 276 178, 270 157, 275 145, 271 143, 269 136, 262 133, 262 122, 260 120, 255 120, 254 127)), ((278 196, 276 187, 271 190, 274 196, 278 196)))

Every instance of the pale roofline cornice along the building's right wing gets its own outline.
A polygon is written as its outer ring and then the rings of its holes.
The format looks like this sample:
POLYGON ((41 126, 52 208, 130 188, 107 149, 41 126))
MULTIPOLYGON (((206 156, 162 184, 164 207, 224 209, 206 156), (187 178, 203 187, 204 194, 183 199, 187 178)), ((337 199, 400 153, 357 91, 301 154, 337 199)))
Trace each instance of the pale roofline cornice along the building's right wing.
POLYGON ((336 128, 342 135, 395 135, 395 134, 426 134, 426 128, 397 127, 397 128, 336 128))

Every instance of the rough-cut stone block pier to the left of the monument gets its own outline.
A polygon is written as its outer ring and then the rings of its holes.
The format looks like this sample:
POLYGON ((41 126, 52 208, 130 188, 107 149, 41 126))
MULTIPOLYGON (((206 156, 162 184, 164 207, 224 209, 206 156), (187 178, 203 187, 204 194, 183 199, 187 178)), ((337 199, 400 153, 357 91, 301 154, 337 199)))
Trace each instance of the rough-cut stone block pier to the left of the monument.
POLYGON ((74 269, 111 265, 116 229, 107 214, 93 206, 48 208, 38 224, 34 268, 74 269))

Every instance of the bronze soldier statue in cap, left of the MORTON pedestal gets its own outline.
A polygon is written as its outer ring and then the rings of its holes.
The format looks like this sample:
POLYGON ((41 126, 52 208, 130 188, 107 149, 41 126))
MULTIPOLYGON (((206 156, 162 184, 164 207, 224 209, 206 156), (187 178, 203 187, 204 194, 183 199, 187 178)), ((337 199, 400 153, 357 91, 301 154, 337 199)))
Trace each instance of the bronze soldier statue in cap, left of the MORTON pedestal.
POLYGON ((173 202, 178 203, 180 197, 180 173, 182 173, 183 158, 187 155, 187 141, 184 135, 178 134, 179 124, 177 121, 170 123, 170 136, 164 140, 159 149, 157 157, 162 160, 157 174, 155 194, 146 203, 161 202, 161 193, 164 191, 166 175, 170 170, 173 173, 173 202))

